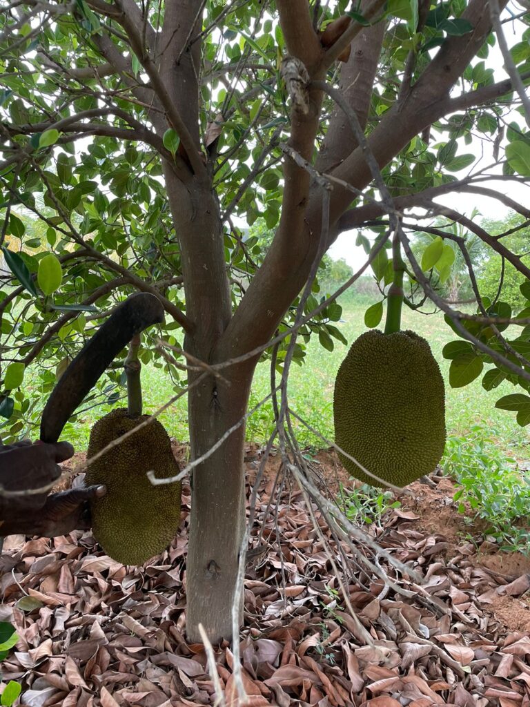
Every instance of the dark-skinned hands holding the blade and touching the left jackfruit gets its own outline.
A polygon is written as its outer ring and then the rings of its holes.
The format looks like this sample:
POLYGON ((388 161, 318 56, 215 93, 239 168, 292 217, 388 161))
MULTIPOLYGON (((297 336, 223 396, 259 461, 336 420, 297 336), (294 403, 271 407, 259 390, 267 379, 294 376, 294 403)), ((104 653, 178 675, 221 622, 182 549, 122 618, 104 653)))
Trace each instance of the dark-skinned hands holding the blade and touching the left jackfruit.
POLYGON ((67 442, 0 446, 0 535, 54 537, 90 528, 89 501, 105 496, 105 486, 49 494, 61 476, 58 462, 72 455, 67 442))

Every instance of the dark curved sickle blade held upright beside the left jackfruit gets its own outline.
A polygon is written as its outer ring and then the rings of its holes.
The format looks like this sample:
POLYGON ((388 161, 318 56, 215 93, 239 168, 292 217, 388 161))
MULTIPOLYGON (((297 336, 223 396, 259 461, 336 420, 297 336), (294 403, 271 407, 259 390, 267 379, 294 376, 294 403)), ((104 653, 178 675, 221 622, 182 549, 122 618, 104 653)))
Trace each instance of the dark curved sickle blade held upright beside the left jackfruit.
POLYGON ((132 295, 112 312, 66 368, 49 396, 40 422, 42 442, 57 442, 66 421, 117 354, 135 334, 163 320, 162 303, 148 292, 132 295))

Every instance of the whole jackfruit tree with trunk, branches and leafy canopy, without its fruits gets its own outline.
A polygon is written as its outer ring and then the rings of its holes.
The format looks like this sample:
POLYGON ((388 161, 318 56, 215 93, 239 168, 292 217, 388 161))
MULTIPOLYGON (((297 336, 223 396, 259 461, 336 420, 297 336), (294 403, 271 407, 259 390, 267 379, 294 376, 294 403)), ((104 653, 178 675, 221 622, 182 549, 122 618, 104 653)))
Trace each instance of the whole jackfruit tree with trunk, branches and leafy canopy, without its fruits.
MULTIPOLYGON (((229 638, 254 369, 278 334, 281 368, 314 272, 292 353, 303 358, 312 334, 324 349, 343 340, 333 300, 314 312, 325 294, 317 262, 339 234, 365 247, 363 272, 382 293, 367 325, 381 319, 397 237, 405 305, 434 303, 455 331, 450 382, 487 366, 485 387, 529 388, 529 310, 506 341, 502 283, 488 300, 473 276, 477 315, 443 290, 447 242, 465 260, 474 234, 524 276, 530 300, 521 254, 454 199, 466 194, 469 211, 497 199, 530 218, 517 197, 530 175, 528 2, 2 0, 0 10, 0 433, 35 436, 56 370, 115 303, 155 293, 165 325, 141 356, 187 386, 192 459, 233 428, 194 469, 187 555, 189 638, 200 640, 199 622, 212 641, 229 638), (247 235, 258 218, 275 231, 270 245, 247 235), (421 231, 432 243, 418 262, 421 231), (37 387, 24 386, 29 366, 37 387)), ((119 375, 110 368, 93 402, 118 397, 119 375)), ((530 397, 510 398, 500 405, 527 423, 530 397)))

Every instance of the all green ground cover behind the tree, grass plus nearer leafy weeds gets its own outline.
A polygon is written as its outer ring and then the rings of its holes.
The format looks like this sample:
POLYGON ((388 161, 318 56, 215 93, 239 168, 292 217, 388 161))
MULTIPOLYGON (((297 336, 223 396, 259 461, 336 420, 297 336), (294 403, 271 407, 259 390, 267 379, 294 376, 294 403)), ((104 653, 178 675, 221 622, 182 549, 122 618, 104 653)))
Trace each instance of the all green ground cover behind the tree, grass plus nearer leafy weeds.
MULTIPOLYGON (((364 312, 371 302, 348 296, 341 304, 343 315, 337 325, 349 346, 365 331, 364 312)), ((524 527, 517 526, 530 502, 529 477, 521 471, 521 462, 530 460, 529 428, 520 427, 514 414, 495 408, 495 401, 513 392, 514 388, 504 382, 497 389, 487 392, 481 386, 481 378, 463 388, 449 387, 449 361, 442 358, 442 348, 455 339, 455 335, 440 313, 427 316, 406 309, 402 327, 413 329, 430 342, 432 353, 440 363, 446 380, 448 438, 442 465, 457 481, 459 491, 455 500, 460 503, 460 510, 465 513, 466 507, 470 507, 471 518, 485 521, 485 532, 495 537, 500 547, 530 551, 529 533, 524 527)), ((290 407, 330 441, 334 438, 334 380, 348 346, 335 341, 334 351, 329 352, 319 345, 318 337, 314 337, 307 347, 304 365, 293 363, 290 370, 290 407)), ((260 363, 252 385, 250 407, 269 394, 269 375, 269 363, 260 363)), ((175 382, 161 368, 155 368, 152 364, 144 366, 142 378, 147 413, 155 411, 175 395, 175 382)), ((35 370, 27 375, 25 386, 33 388, 33 394, 38 395, 35 370)), ((98 404, 82 411, 75 423, 66 426, 63 438, 71 440, 78 450, 86 449, 90 426, 110 409, 110 405, 98 404)), ((186 397, 165 411, 160 420, 171 436, 181 442, 187 441, 186 397)), ((271 433, 272 420, 269 401, 249 419, 247 439, 264 443, 271 433)), ((296 421, 294 423, 302 447, 314 450, 326 446, 305 426, 296 421)), ((523 464, 523 468, 526 466, 523 464)), ((378 520, 384 510, 392 505, 391 493, 369 488, 343 493, 342 501, 348 515, 358 522, 378 520)))

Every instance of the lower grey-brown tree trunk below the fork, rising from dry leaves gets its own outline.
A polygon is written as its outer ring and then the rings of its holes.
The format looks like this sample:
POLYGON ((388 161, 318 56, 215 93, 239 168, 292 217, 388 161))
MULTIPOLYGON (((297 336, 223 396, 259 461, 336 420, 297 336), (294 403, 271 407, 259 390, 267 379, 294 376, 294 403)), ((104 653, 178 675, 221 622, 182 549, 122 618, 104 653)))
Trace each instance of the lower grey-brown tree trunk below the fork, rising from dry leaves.
MULTIPOLYGON (((230 385, 208 378, 189 392, 194 459, 207 452, 247 411, 252 371, 242 376, 229 368, 226 373, 230 385)), ((244 445, 242 424, 192 472, 186 583, 186 630, 192 642, 201 642, 199 623, 204 624, 212 643, 232 638, 232 600, 245 531, 244 445)), ((239 610, 241 620, 242 606, 239 610)))

